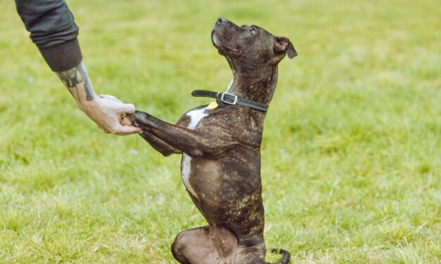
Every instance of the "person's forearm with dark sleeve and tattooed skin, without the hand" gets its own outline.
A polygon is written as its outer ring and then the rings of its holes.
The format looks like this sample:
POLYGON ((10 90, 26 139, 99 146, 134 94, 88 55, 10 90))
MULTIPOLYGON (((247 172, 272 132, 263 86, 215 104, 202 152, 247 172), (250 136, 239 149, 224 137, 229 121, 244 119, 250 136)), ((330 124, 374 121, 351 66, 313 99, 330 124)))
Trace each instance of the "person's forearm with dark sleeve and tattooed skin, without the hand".
POLYGON ((82 62, 78 27, 64 0, 15 0, 30 38, 82 110, 96 97, 82 62))

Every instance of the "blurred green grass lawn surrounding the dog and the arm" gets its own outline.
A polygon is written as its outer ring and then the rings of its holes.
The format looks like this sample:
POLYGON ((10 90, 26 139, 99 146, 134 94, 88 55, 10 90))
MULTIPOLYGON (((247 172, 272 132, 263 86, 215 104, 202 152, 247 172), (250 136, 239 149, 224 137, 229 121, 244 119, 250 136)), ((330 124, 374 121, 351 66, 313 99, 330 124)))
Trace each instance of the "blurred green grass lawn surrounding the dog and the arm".
MULTIPOLYGON (((174 122, 224 91, 219 15, 289 37, 262 145, 267 247, 440 263, 439 1, 68 1, 97 93, 174 122)), ((174 263, 205 221, 179 155, 103 133, 0 1, 0 263, 174 263)), ((268 261, 277 255, 268 254, 268 261)))

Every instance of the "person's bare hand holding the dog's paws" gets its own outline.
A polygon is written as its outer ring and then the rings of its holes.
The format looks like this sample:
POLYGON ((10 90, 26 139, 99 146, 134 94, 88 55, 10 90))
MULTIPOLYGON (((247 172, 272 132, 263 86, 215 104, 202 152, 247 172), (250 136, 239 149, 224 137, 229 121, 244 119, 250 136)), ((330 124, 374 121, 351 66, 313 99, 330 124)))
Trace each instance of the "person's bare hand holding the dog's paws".
POLYGON ((133 114, 135 107, 122 103, 115 96, 99 95, 94 100, 82 101, 78 105, 106 133, 125 136, 141 131, 141 128, 122 123, 124 114, 133 114))

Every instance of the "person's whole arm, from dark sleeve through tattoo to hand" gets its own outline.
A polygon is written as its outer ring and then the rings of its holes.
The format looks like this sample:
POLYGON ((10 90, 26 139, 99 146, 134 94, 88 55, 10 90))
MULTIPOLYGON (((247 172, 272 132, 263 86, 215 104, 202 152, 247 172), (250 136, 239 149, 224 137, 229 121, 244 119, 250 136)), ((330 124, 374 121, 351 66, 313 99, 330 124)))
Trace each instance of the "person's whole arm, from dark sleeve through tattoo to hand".
POLYGON ((30 38, 44 60, 63 81, 79 108, 106 133, 127 135, 139 132, 134 126, 122 126, 122 114, 134 112, 109 95, 96 95, 82 62, 78 27, 63 0, 15 0, 17 11, 30 38))

